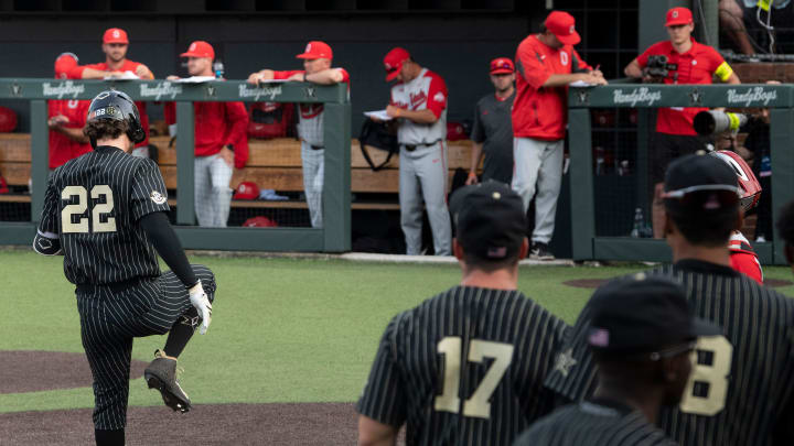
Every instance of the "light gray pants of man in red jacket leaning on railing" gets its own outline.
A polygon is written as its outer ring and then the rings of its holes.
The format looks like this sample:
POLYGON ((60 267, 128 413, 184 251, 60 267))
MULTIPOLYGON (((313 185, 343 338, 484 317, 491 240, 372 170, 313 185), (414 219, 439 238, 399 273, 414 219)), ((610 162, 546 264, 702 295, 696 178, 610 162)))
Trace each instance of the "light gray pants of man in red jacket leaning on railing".
POLYGON ((557 197, 562 183, 562 142, 513 139, 515 164, 511 187, 521 195, 524 210, 535 197, 533 242, 548 243, 554 235, 557 197))

